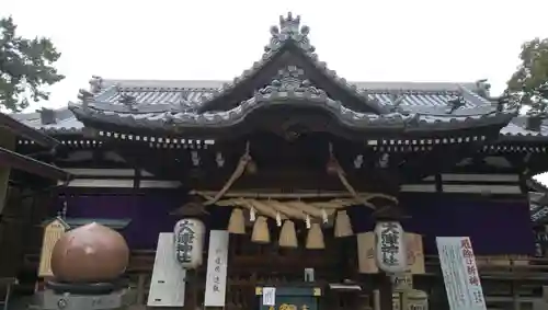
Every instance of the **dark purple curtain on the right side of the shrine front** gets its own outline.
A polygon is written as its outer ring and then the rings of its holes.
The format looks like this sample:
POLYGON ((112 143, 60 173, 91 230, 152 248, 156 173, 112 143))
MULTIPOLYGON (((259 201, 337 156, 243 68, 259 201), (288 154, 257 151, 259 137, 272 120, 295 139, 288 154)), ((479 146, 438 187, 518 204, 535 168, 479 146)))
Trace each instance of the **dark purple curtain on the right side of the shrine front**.
MULTIPOLYGON (((413 195, 401 204, 410 219, 402 222, 407 231, 424 236, 424 250, 437 253, 435 237, 470 237, 478 255, 534 254, 535 242, 528 202, 481 202, 441 196, 413 195)), ((370 210, 350 210, 355 231, 374 228, 370 210)))

